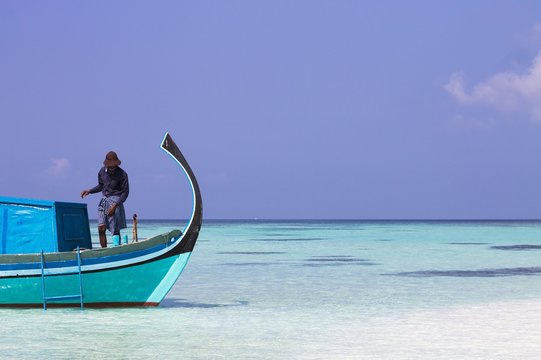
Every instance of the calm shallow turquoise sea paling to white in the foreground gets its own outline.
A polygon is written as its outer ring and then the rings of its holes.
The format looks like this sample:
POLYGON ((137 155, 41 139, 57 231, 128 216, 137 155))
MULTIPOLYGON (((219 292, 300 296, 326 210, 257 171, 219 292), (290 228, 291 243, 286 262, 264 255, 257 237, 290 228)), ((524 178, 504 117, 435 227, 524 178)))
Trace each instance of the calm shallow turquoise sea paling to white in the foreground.
POLYGON ((541 222, 208 221, 160 307, 0 309, 0 358, 539 359, 540 275, 541 222))

